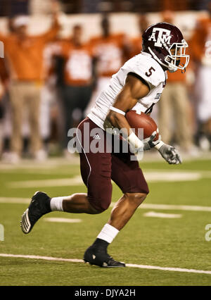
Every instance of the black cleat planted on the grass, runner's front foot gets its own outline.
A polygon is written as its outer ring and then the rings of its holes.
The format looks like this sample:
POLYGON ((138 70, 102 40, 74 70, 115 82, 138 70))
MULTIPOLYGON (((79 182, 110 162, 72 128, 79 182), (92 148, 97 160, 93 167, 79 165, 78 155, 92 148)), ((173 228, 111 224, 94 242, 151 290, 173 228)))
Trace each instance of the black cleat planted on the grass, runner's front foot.
POLYGON ((125 267, 125 263, 115 261, 106 251, 99 251, 95 246, 90 246, 84 253, 84 262, 103 268, 125 267))

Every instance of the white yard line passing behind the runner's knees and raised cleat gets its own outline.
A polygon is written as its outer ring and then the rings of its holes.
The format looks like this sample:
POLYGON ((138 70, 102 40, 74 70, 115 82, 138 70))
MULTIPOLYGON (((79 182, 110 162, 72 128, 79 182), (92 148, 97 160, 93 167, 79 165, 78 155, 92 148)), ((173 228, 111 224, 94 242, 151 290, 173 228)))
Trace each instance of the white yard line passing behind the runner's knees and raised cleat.
MULTIPOLYGON (((29 198, 0 197, 2 204, 29 204, 29 198)), ((115 202, 110 207, 115 206, 115 202)), ((211 206, 191 206, 191 205, 169 205, 169 204, 141 204, 139 208, 143 209, 160 209, 162 211, 205 211, 211 212, 211 206)))

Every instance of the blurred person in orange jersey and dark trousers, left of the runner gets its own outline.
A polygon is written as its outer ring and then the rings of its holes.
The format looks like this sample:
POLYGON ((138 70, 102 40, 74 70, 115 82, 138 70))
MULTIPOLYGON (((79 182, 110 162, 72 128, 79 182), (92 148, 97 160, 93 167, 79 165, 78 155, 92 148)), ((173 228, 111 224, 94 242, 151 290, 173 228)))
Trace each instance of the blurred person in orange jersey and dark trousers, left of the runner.
MULTIPOLYGON (((68 130, 77 127, 84 118, 92 92, 93 52, 89 42, 83 42, 83 28, 75 25, 70 39, 59 43, 63 56, 61 97, 63 102, 63 149, 67 152, 68 130)), ((59 52, 58 51, 58 52, 59 52)))

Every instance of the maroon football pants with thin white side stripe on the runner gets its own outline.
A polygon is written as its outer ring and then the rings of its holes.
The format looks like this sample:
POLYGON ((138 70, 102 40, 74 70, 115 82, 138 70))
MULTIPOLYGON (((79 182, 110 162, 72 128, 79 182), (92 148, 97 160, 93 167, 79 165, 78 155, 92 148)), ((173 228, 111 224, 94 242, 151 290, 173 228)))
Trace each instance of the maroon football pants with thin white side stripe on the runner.
POLYGON ((123 193, 148 194, 148 185, 141 168, 139 168, 139 162, 137 160, 131 161, 131 156, 134 156, 132 152, 122 152, 122 145, 127 142, 120 139, 120 136, 115 135, 110 135, 112 138, 106 140, 106 132, 99 129, 89 118, 85 118, 82 123, 79 124, 77 133, 79 130, 81 135, 77 134, 77 142, 79 142, 81 146, 79 154, 80 169, 82 180, 88 189, 87 194, 91 206, 98 211, 105 211, 110 206, 112 196, 111 180, 120 187, 123 193), (89 132, 84 130, 85 123, 89 125, 89 132), (96 132, 100 130, 103 134, 94 135, 94 133, 92 133, 91 135, 93 136, 90 136, 91 130, 94 131, 94 129, 96 129, 96 132), (89 141, 89 144, 94 142, 96 146, 97 143, 99 143, 99 139, 103 139, 103 153, 99 151, 93 153, 90 149, 87 150, 84 137, 86 141, 89 141), (114 149, 114 139, 119 139, 120 153, 117 153, 114 149))

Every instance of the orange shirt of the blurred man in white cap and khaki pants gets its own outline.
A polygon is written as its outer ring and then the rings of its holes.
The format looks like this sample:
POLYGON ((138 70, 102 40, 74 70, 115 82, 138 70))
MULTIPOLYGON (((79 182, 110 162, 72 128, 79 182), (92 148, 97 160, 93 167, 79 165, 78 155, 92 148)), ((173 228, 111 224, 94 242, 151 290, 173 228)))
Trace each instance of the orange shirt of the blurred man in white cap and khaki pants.
POLYGON ((56 37, 58 29, 58 24, 55 24, 46 34, 27 36, 25 39, 15 34, 0 35, 13 80, 44 80, 44 47, 56 37))

